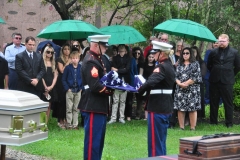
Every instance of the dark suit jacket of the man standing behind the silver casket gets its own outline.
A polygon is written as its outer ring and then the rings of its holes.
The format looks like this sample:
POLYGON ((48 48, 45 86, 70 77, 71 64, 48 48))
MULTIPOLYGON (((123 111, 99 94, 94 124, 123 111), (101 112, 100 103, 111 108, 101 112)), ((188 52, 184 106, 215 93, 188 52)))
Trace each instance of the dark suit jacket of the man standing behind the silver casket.
POLYGON ((17 54, 15 69, 19 77, 18 90, 38 95, 37 88, 31 84, 31 79, 38 79, 37 86, 42 83, 42 77, 46 73, 42 55, 33 52, 31 60, 26 51, 17 54))

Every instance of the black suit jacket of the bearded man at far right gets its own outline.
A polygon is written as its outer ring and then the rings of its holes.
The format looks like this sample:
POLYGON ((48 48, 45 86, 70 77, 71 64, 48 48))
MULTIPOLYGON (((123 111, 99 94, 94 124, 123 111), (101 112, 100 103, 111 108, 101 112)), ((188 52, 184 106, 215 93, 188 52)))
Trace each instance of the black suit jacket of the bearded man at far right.
POLYGON ((240 71, 240 55, 236 49, 228 46, 224 49, 224 58, 221 61, 220 50, 219 48, 213 49, 208 56, 209 82, 233 85, 234 76, 240 71))

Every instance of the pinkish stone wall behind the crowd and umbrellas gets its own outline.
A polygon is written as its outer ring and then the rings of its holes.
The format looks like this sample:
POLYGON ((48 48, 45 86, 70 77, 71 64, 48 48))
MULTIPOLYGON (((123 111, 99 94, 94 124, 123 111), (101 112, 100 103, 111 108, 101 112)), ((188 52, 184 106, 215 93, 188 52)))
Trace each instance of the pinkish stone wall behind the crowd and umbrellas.
MULTIPOLYGON (((18 4, 17 0, 14 0, 13 3, 7 3, 7 0, 0 0, 0 17, 6 22, 6 24, 0 24, 1 47, 12 41, 11 35, 14 32, 22 34, 23 43, 27 36, 35 37, 37 43, 44 40, 36 37, 38 33, 49 24, 61 20, 61 17, 51 4, 43 6, 40 2, 41 0, 23 0, 22 4, 18 4)), ((101 17, 99 17, 96 16, 96 12, 98 12, 99 9, 100 8, 96 8, 96 6, 87 9, 88 13, 82 14, 88 15, 89 17, 83 20, 97 27, 106 26, 113 11, 108 11, 107 13, 102 12, 101 17)), ((122 12, 124 12, 124 10, 122 12)), ((121 19, 119 19, 119 17, 121 17, 120 15, 121 12, 118 12, 114 16, 112 24, 121 21, 121 19)), ((76 15, 75 19, 82 20, 82 16, 76 15)), ((2 50, 2 48, 0 48, 0 50, 2 50)))

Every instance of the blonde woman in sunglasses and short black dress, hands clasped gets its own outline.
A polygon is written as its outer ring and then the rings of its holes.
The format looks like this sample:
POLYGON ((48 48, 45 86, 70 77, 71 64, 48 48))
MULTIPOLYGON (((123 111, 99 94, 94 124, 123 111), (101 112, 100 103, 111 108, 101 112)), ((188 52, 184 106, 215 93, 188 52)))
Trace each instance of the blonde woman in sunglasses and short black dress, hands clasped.
POLYGON ((50 116, 51 102, 55 102, 57 100, 55 84, 57 81, 58 72, 56 70, 54 53, 54 49, 51 46, 46 46, 43 51, 43 61, 46 67, 46 74, 42 78, 44 93, 41 95, 41 97, 43 101, 49 102, 49 107, 46 113, 46 123, 48 122, 50 116))

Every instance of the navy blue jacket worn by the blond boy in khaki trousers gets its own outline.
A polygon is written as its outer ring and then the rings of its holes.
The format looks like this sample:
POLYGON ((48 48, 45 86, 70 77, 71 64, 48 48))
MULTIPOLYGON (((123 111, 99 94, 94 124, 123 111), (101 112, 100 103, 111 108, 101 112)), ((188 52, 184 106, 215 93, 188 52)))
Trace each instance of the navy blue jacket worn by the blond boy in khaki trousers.
MULTIPOLYGON (((78 66, 77 66, 77 86, 78 86, 77 92, 82 89, 82 78, 81 78, 80 70, 81 70, 81 65, 78 64, 78 66)), ((68 91, 68 89, 71 89, 73 87, 74 67, 72 64, 69 64, 64 69, 63 76, 62 76, 62 83, 63 83, 63 88, 65 91, 68 91)))

